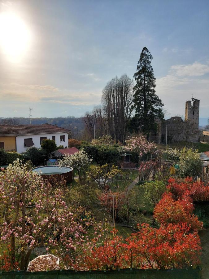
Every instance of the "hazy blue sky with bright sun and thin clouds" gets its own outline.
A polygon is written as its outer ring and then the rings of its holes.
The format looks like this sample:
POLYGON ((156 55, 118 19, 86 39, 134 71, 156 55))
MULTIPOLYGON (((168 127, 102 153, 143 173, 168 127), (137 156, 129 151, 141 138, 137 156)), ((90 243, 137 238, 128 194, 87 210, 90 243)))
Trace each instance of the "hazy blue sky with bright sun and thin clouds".
POLYGON ((166 117, 209 117, 209 1, 0 0, 0 117, 80 117, 153 56, 166 117))

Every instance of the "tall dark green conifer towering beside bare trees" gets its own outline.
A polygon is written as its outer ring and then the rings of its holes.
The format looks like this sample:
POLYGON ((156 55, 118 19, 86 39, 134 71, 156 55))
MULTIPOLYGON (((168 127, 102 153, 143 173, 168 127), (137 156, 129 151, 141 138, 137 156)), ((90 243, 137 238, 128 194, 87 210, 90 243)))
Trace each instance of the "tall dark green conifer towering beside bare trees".
POLYGON ((142 49, 137 71, 133 77, 136 85, 133 87, 133 108, 135 116, 132 119, 132 130, 143 131, 149 135, 156 130, 155 116, 163 118, 163 103, 155 94, 155 77, 151 65, 152 55, 147 47, 142 49), (134 128, 133 128, 134 126, 134 128))

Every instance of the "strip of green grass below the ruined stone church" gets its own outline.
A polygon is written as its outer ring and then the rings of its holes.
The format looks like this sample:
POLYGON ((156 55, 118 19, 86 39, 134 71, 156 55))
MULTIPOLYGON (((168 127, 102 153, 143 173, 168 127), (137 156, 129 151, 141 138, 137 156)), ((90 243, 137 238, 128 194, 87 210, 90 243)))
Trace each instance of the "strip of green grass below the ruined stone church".
MULTIPOLYGON (((206 152, 209 151, 209 144, 202 144, 202 143, 193 143, 193 142, 187 142, 187 141, 181 141, 178 143, 171 143, 167 145, 167 147, 171 147, 173 149, 180 149, 183 147, 192 148, 194 150, 198 149, 199 152, 206 152)), ((165 150, 166 146, 165 144, 157 144, 157 148, 161 150, 165 150)))

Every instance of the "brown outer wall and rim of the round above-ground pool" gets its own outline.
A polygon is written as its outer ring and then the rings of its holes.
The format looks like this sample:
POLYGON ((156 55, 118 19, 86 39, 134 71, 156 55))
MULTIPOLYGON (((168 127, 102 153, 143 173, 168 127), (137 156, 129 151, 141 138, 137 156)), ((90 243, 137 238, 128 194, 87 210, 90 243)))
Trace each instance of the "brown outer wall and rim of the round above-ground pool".
POLYGON ((62 167, 60 166, 41 166, 41 167, 36 167, 34 168, 33 170, 36 171, 37 173, 39 173, 42 178, 44 180, 49 180, 49 181, 52 181, 53 182, 53 179, 56 178, 58 181, 59 180, 66 180, 66 182, 72 182, 72 180, 74 179, 74 176, 73 176, 73 168, 71 167, 63 167, 64 169, 69 169, 69 171, 65 171, 65 172, 61 172, 62 170, 62 167), (43 169, 44 168, 44 169, 43 169), (55 171, 53 171, 53 168, 55 171), (42 173, 40 173, 40 171, 42 171, 42 173), (55 173, 55 174, 52 174, 52 175, 46 175, 44 173, 47 173, 47 172, 56 172, 60 170, 60 173, 55 173))

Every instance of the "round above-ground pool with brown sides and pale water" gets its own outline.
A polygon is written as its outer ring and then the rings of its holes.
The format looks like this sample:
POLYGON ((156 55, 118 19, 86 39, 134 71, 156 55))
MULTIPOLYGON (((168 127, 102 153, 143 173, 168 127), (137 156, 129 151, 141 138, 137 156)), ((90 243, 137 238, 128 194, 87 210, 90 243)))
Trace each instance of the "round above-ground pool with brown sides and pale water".
POLYGON ((40 174, 43 179, 57 178, 71 182, 73 179, 73 168, 67 166, 40 166, 33 169, 33 172, 40 174))

